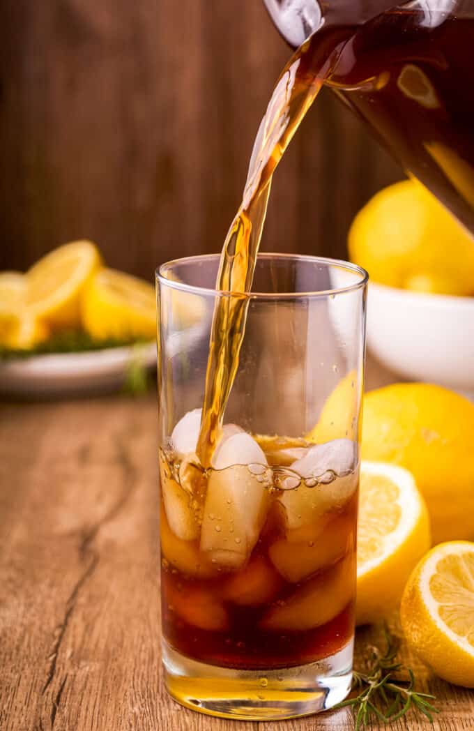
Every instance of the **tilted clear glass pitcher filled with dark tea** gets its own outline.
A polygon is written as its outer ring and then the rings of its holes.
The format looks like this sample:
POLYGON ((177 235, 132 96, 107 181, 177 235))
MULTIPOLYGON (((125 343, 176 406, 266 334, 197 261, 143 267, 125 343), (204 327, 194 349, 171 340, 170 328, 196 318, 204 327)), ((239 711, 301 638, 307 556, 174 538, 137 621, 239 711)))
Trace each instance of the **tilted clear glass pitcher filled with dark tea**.
POLYGON ((326 86, 474 235, 474 0, 264 2, 293 47, 343 31, 326 86))

